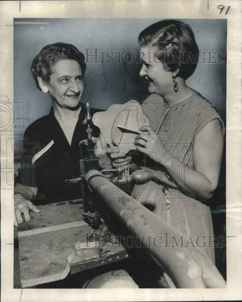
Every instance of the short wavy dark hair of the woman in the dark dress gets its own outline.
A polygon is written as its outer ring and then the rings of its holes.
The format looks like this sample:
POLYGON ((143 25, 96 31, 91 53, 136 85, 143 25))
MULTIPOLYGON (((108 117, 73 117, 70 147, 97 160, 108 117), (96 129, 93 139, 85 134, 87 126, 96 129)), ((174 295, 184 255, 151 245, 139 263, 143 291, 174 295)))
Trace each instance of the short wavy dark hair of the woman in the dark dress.
POLYGON ((77 61, 81 67, 82 76, 84 76, 87 65, 83 53, 72 44, 62 42, 49 44, 41 49, 31 65, 31 72, 39 90, 41 89, 37 77, 40 76, 46 84, 49 84, 49 78, 52 74, 51 67, 62 59, 77 61))

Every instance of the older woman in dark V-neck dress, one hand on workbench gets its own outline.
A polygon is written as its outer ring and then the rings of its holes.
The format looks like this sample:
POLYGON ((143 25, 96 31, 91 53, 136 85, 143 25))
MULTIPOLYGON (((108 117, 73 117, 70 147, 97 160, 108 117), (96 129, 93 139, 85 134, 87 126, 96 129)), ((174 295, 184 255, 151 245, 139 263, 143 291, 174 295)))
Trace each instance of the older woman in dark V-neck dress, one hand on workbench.
MULTIPOLYGON (((40 204, 80 198, 80 186, 66 184, 65 179, 80 174, 78 143, 87 139, 86 109, 80 103, 85 70, 84 55, 71 44, 46 45, 33 59, 31 72, 37 88, 49 94, 53 106, 24 133, 21 173, 14 190, 15 226, 23 222, 22 214, 28 221, 29 210, 39 212, 33 199, 40 204)), ((94 125, 93 135, 99 135, 94 125)), ((107 167, 110 161, 102 133, 96 144, 99 164, 107 167)))

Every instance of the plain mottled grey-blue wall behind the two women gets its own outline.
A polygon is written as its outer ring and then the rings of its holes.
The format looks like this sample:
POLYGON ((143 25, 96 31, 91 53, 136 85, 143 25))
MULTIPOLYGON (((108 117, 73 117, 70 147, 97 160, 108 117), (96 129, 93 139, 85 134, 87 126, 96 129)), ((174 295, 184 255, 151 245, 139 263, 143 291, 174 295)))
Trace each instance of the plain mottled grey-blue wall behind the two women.
MULTIPOLYGON (((160 20, 14 19, 14 98, 20 103, 23 113, 21 117, 15 114, 15 143, 22 142, 27 126, 48 114, 52 105, 49 95, 36 88, 30 72, 32 60, 42 47, 65 42, 75 45, 83 52, 90 63, 87 63, 81 101, 90 102, 94 108, 107 109, 112 104, 123 104, 131 98, 141 100, 143 96, 149 95, 147 82, 139 76, 141 64, 136 63, 138 36, 147 26, 160 20), (95 52, 96 57, 90 56, 95 52), (120 57, 114 52, 120 52, 120 57), (128 52, 134 53, 136 58, 128 52), (126 57, 122 53, 126 53, 126 57), (131 63, 127 63, 127 60, 131 63)), ((226 62, 212 62, 218 59, 218 52, 226 54, 227 20, 180 21, 190 25, 199 51, 205 52, 205 55, 200 55, 200 61, 203 61, 201 56, 207 59, 205 63, 198 64, 187 84, 211 101, 225 122, 226 62)))

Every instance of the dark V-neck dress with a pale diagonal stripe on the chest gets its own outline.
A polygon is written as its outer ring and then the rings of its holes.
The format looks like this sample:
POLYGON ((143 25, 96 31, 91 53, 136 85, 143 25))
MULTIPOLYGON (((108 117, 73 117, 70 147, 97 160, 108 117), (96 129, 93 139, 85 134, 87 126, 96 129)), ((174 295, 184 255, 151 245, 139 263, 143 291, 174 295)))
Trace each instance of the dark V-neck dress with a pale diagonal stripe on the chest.
MULTIPOLYGON (((91 114, 96 111, 91 109, 91 114)), ((86 113, 84 104, 81 104, 71 146, 54 115, 53 107, 48 115, 34 121, 25 130, 24 153, 17 182, 38 188, 34 204, 81 198, 80 184, 67 184, 65 179, 80 175, 78 143, 87 139, 86 125, 83 124, 86 113)), ((92 124, 92 129, 93 137, 98 137, 99 128, 92 124)))

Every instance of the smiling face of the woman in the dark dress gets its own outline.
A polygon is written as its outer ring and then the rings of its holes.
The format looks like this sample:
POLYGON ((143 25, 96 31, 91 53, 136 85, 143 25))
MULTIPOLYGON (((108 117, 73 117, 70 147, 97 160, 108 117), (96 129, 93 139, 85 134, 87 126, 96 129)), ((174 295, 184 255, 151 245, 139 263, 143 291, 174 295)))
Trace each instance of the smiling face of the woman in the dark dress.
POLYGON ((81 66, 74 60, 60 60, 52 66, 50 81, 46 86, 56 105, 66 109, 75 108, 84 89, 81 66))

